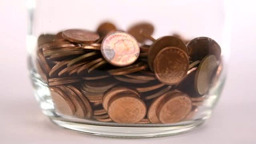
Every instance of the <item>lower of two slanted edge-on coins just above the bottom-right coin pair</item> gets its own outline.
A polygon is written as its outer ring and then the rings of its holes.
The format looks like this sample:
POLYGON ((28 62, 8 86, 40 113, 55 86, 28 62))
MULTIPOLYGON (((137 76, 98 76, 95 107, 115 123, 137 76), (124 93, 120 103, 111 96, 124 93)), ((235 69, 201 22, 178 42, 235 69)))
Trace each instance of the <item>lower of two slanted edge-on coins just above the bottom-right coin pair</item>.
POLYGON ((167 86, 167 87, 163 87, 160 90, 156 89, 152 92, 143 92, 141 93, 141 97, 144 100, 149 100, 149 99, 153 99, 156 98, 158 96, 161 96, 162 94, 164 94, 165 92, 169 91, 172 88, 172 86, 167 86))

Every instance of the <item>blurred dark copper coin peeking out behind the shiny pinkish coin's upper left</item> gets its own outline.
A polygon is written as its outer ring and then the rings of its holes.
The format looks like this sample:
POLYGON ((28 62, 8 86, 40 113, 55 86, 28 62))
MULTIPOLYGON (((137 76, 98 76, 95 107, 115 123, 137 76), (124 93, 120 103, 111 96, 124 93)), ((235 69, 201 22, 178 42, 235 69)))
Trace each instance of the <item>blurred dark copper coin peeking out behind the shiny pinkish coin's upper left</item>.
POLYGON ((110 22, 101 23, 97 29, 97 33, 100 34, 100 36, 106 36, 114 31, 116 31, 116 26, 110 22))

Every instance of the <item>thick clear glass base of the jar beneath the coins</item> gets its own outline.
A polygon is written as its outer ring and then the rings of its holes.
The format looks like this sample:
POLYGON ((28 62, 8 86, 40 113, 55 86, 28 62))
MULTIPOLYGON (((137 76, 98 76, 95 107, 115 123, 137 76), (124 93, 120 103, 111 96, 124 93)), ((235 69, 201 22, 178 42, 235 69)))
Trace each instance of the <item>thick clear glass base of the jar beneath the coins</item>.
POLYGON ((169 135, 187 132, 199 125, 205 119, 189 120, 176 125, 158 126, 158 127, 129 127, 129 126, 104 126, 92 125, 77 122, 67 122, 55 117, 50 117, 55 124, 84 134, 96 135, 100 137, 112 138, 153 138, 166 137, 169 135))

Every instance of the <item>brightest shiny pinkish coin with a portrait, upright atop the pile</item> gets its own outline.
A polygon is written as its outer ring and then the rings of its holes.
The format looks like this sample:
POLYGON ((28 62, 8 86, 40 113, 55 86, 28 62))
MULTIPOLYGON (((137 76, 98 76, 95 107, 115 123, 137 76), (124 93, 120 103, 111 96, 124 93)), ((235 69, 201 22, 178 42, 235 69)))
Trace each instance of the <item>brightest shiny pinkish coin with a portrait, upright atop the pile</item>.
POLYGON ((140 47, 130 34, 118 31, 104 38, 101 53, 110 64, 124 67, 138 59, 140 47))

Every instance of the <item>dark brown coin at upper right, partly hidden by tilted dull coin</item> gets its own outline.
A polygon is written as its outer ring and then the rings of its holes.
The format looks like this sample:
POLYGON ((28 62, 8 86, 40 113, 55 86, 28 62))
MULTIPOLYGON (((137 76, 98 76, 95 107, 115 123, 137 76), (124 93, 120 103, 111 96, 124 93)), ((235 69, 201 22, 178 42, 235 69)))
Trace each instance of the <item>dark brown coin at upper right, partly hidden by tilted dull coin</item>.
POLYGON ((214 55, 220 58, 221 48, 217 42, 208 37, 197 37, 188 44, 189 56, 193 61, 201 60, 207 55, 214 55))

